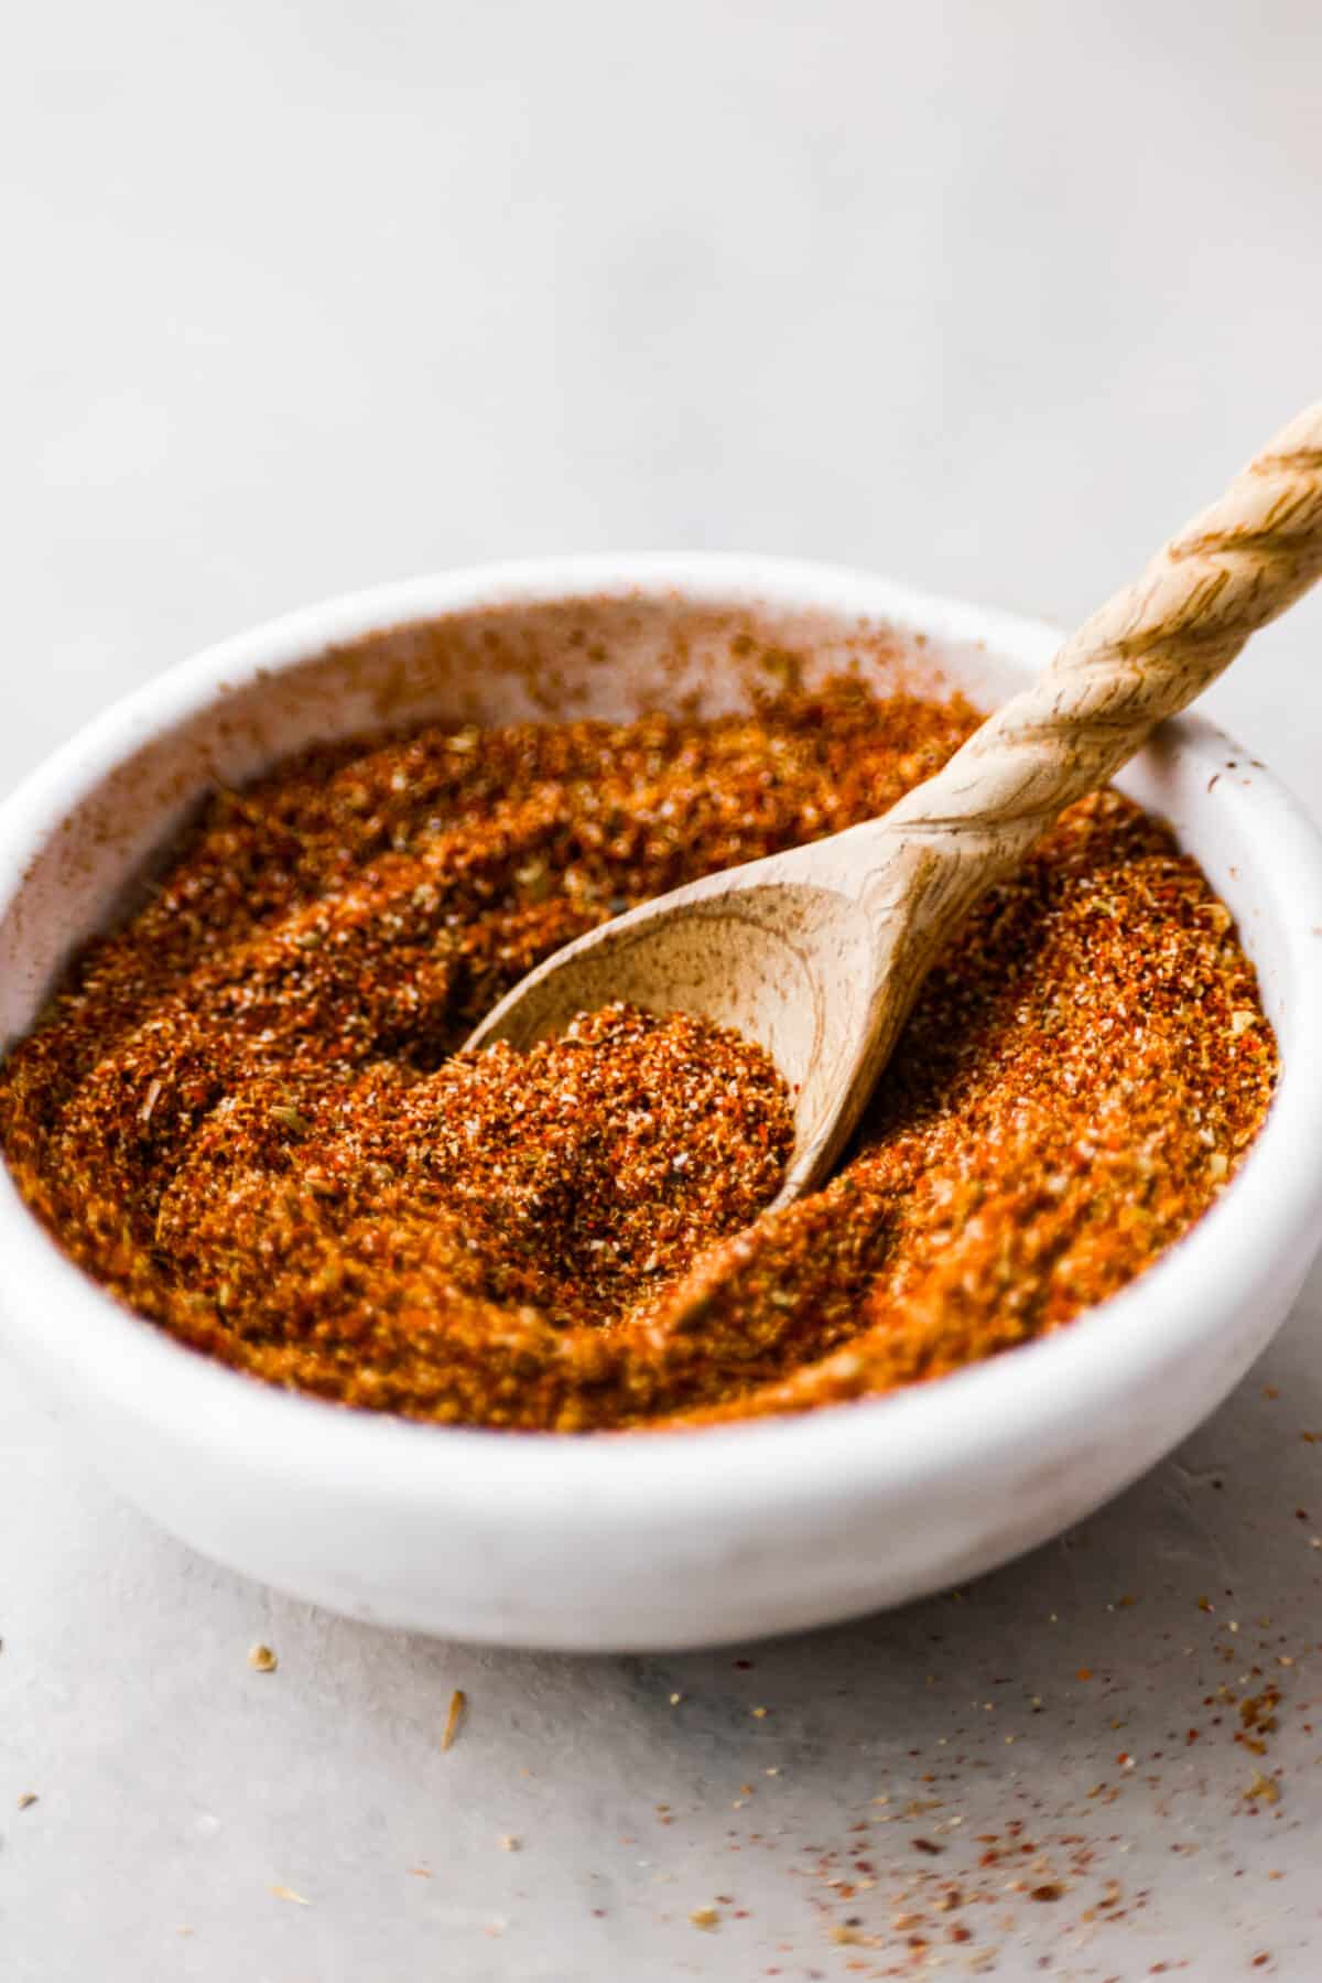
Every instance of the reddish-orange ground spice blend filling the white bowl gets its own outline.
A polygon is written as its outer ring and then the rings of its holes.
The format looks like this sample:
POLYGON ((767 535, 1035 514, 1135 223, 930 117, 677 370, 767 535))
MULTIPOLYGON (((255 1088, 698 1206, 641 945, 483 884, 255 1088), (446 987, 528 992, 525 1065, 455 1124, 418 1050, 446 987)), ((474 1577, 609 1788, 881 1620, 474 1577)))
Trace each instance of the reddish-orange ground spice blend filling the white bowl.
POLYGON ((975 722, 842 678, 216 791, 0 1071, 18 1188, 180 1342, 436 1424, 803 1412, 1060 1329, 1207 1212, 1276 1079, 1229 910, 1114 791, 973 912, 791 1208, 791 1099, 737 1035, 618 1005, 458 1053, 571 936, 886 811, 975 722))

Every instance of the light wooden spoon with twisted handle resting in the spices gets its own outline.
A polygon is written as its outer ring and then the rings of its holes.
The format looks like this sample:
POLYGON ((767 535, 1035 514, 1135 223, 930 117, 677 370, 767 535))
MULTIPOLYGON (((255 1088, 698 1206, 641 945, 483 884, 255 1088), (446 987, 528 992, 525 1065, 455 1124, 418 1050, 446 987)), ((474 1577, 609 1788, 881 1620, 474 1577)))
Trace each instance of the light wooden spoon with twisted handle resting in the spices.
POLYGON ((777 1204, 819 1184, 963 916, 1322 573, 1322 401, 882 819, 708 875, 547 958, 470 1047, 628 999, 761 1041, 795 1095, 777 1204))

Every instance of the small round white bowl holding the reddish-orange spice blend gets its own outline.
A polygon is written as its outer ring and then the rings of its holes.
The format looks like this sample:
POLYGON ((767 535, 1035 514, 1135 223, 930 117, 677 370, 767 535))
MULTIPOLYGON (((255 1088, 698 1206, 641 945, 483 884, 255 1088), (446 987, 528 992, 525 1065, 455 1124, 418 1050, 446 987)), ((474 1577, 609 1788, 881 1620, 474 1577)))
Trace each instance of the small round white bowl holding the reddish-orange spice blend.
MULTIPOLYGON (((0 1035, 212 777, 388 720, 624 716, 733 692, 731 625, 985 704, 1052 629, 858 573, 741 557, 501 565, 333 601, 184 662, 0 809, 0 1035), (908 656, 908 658, 906 658, 908 656)), ((898 1396, 747 1426, 440 1430, 270 1390, 71 1267, 0 1166, 0 1323, 79 1452, 196 1549, 357 1618, 555 1648, 696 1646, 900 1604, 1078 1521, 1219 1404, 1280 1325, 1322 1210, 1322 841, 1219 730, 1120 779, 1235 910, 1284 1075, 1233 1186, 1114 1301, 898 1396)))

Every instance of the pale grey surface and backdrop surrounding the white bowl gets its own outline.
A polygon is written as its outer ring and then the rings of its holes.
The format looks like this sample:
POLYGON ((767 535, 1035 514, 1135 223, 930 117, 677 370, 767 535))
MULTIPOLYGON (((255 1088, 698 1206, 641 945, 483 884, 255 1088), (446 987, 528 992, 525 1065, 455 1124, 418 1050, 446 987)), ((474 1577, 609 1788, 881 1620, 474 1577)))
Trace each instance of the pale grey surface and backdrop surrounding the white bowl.
MULTIPOLYGON (((26 10, 0 783, 206 641, 482 557, 1084 613, 1320 389, 1320 63, 1312 0, 26 10)), ((1314 601, 1211 696, 1314 805, 1320 637, 1314 601)), ((1318 1321, 1314 1275, 1177 1459, 961 1598, 666 1660, 275 1598, 0 1370, 0 1973, 1316 1977, 1318 1321), (1245 1674, 1263 1757, 1205 1705, 1245 1674), (1007 1818, 1029 1876, 977 1866, 1007 1818), (932 1912, 947 1876, 989 1898, 932 1912)))

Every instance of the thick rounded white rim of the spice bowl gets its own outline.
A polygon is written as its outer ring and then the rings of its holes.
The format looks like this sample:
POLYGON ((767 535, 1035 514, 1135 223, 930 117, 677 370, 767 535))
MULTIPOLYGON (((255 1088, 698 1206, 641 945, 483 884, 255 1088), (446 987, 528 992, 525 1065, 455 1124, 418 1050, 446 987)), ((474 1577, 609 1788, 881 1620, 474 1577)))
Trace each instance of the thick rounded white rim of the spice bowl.
MULTIPOLYGON (((59 823, 151 738, 228 692, 345 641, 416 619, 573 597, 676 597, 694 605, 856 613, 981 642, 1019 666, 1045 664, 1060 633, 1035 619, 941 599, 848 567, 729 553, 620 553, 478 565, 339 595, 264 621, 174 664, 85 724, 0 805, 0 918, 59 823)), ((46 1360, 77 1366, 79 1386, 131 1420, 182 1432, 190 1450, 262 1467, 270 1479, 373 1501, 488 1513, 585 1543, 622 1531, 725 1515, 821 1507, 838 1495, 912 1495, 951 1465, 993 1473, 1025 1444, 1076 1430, 1094 1438, 1106 1404, 1207 1354, 1225 1317, 1253 1301, 1268 1263, 1298 1251, 1322 1224, 1322 835, 1286 787, 1201 716, 1163 730, 1211 769, 1253 761, 1249 789, 1227 803, 1235 833, 1270 845, 1270 888, 1288 932, 1294 997, 1288 1065, 1270 1116, 1241 1172, 1195 1225, 1138 1281, 1068 1329, 1013 1354, 882 1398, 793 1418, 563 1436, 430 1426, 345 1410, 262 1384, 184 1348, 81 1273, 18 1198, 0 1162, 2 1301, 12 1337, 42 1335, 46 1360), (1288 914, 1286 914, 1288 908, 1288 914), (1312 978, 1308 980, 1308 974, 1312 978), (38 1297, 38 1299, 34 1299, 38 1297), (1211 1317, 1211 1321, 1207 1321, 1211 1317), (1217 1317, 1223 1321, 1217 1325, 1217 1317)), ((1229 781, 1227 781, 1229 783, 1229 781)))

